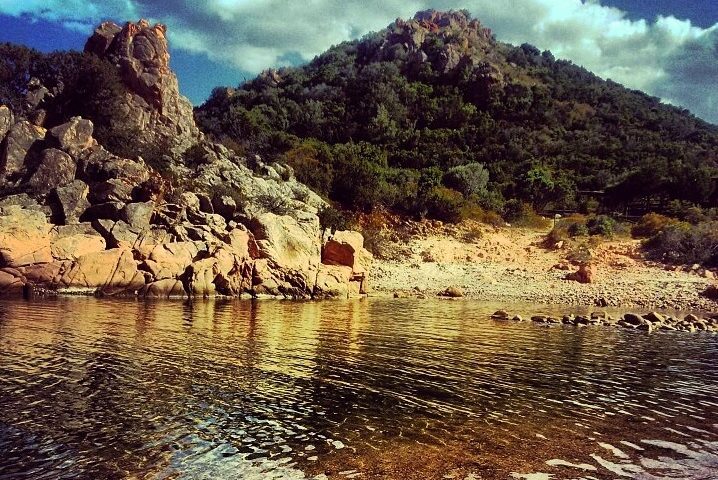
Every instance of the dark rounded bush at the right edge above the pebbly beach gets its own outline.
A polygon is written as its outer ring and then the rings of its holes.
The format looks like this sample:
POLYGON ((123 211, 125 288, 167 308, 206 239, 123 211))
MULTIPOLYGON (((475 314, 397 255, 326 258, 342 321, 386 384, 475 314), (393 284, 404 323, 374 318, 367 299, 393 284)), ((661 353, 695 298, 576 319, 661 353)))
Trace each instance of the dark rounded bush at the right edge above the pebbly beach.
POLYGON ((654 260, 718 266, 718 222, 668 224, 646 242, 645 248, 654 260))

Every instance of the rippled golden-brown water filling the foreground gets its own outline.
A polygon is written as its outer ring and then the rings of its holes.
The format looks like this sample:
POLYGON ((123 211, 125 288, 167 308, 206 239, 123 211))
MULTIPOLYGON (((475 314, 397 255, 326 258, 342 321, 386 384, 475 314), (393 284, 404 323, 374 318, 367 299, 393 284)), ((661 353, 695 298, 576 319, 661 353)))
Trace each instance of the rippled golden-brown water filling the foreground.
POLYGON ((0 479, 718 479, 718 336, 497 307, 0 300, 0 479))

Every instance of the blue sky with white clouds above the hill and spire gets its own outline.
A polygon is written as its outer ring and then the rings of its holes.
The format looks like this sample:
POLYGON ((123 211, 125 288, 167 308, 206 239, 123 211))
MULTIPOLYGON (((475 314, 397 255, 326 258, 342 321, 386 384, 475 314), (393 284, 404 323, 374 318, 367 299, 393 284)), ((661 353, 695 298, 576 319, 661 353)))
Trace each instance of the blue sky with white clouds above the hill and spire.
POLYGON ((427 8, 466 8, 499 40, 529 42, 718 124, 716 0, 0 0, 0 41, 81 49, 93 25, 166 23, 183 92, 310 60, 427 8))

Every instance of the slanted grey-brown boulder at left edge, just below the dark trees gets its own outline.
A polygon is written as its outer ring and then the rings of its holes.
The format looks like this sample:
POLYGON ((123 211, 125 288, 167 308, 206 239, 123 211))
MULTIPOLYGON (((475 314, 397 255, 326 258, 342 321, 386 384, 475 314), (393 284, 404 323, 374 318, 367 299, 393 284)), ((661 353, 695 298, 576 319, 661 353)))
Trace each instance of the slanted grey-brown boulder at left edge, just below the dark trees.
POLYGON ((0 152, 0 180, 18 180, 26 166, 36 162, 46 133, 26 120, 10 127, 0 152))

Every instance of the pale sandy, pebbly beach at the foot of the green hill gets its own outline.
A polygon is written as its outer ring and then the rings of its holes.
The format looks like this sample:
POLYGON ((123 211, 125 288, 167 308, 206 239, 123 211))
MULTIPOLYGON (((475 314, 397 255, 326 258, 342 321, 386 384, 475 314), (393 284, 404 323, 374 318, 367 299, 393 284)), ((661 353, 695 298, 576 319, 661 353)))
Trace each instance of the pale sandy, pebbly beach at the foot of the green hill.
POLYGON ((472 242, 462 234, 476 225, 440 227, 394 242, 390 258, 375 259, 369 276, 376 296, 433 297, 449 287, 486 302, 718 312, 703 292, 715 283, 709 270, 669 267, 646 261, 640 242, 606 241, 594 248, 593 279, 566 277, 566 250, 545 249, 545 231, 481 226, 472 242))

